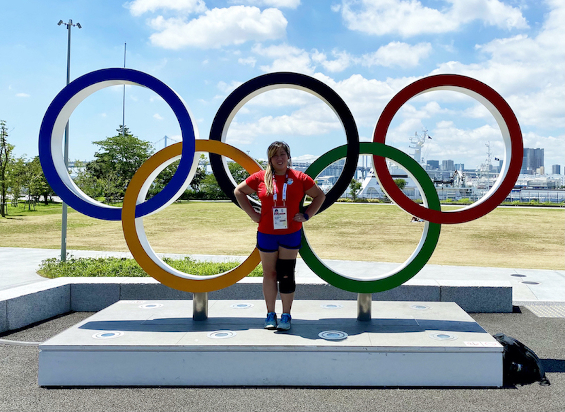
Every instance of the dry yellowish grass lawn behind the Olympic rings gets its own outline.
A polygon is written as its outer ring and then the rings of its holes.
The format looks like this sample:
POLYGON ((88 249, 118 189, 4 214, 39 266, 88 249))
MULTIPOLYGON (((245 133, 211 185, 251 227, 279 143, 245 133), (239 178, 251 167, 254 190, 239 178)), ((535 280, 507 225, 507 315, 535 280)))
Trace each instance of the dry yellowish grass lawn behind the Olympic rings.
MULTIPOLYGON (((449 207, 444 207, 444 210, 449 207)), ((21 207, 19 208, 21 210, 21 207)), ((60 206, 0 218, 0 246, 60 248, 60 206)), ((423 224, 395 205, 335 203, 305 224, 321 258, 403 262, 423 224)), ((173 203, 144 219, 153 249, 163 253, 248 255, 257 226, 229 202, 173 203)), ((128 250, 121 222, 69 209, 68 249, 128 250)), ((565 210, 498 208, 468 223, 442 225, 429 263, 516 268, 565 268, 565 210)))

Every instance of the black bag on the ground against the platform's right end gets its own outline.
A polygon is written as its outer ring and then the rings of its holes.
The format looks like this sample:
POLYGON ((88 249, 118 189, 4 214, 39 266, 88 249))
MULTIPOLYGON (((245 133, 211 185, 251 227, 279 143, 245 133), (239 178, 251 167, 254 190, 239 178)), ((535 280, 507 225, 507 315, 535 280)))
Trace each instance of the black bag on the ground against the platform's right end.
POLYGON ((504 346, 502 368, 505 385, 526 385, 534 382, 544 386, 550 385, 540 358, 532 349, 504 333, 497 333, 493 337, 504 346))

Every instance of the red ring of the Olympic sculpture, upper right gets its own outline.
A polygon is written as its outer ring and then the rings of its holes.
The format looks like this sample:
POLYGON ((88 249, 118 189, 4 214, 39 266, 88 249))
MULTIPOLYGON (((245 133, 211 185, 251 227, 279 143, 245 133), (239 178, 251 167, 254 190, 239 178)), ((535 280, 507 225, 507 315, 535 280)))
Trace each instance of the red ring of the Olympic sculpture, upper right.
POLYGON ((499 183, 497 190, 491 193, 490 196, 487 194, 484 201, 473 203, 473 205, 469 208, 449 212, 437 211, 418 205, 410 200, 410 198, 408 198, 402 190, 398 188, 388 171, 388 167, 386 167, 385 158, 373 156, 375 172, 379 178, 381 188, 383 188, 391 200, 409 214, 418 216, 420 219, 428 220, 428 222, 433 223, 470 222, 471 220, 480 218, 494 210, 506 199, 512 188, 514 188, 514 184, 520 174, 522 158, 524 155, 520 125, 518 124, 518 119, 516 119, 514 112, 510 109, 510 106, 506 103, 505 99, 486 84, 466 76, 436 75, 416 80, 392 98, 388 105, 386 105, 375 126, 373 141, 384 144, 390 122, 392 122, 394 115, 402 107, 402 105, 417 94, 428 92, 434 88, 438 88, 440 90, 442 88, 462 88, 470 90, 490 102, 490 104, 494 106, 494 109, 498 110, 499 114, 502 116, 502 120, 506 123, 506 127, 508 128, 510 135, 511 156, 508 171, 504 175, 501 183, 499 183))

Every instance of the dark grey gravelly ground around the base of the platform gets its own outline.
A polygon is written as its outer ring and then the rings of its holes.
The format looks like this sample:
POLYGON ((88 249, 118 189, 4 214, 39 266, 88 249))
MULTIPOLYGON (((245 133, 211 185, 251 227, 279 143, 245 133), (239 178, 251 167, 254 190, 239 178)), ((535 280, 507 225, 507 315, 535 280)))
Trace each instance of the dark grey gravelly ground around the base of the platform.
MULTIPOLYGON (((72 313, 0 335, 42 342, 88 317, 72 313)), ((565 319, 471 314, 489 333, 503 332, 542 359, 551 385, 458 388, 85 388, 37 385, 37 346, 0 344, 0 411, 565 411, 565 319)))

